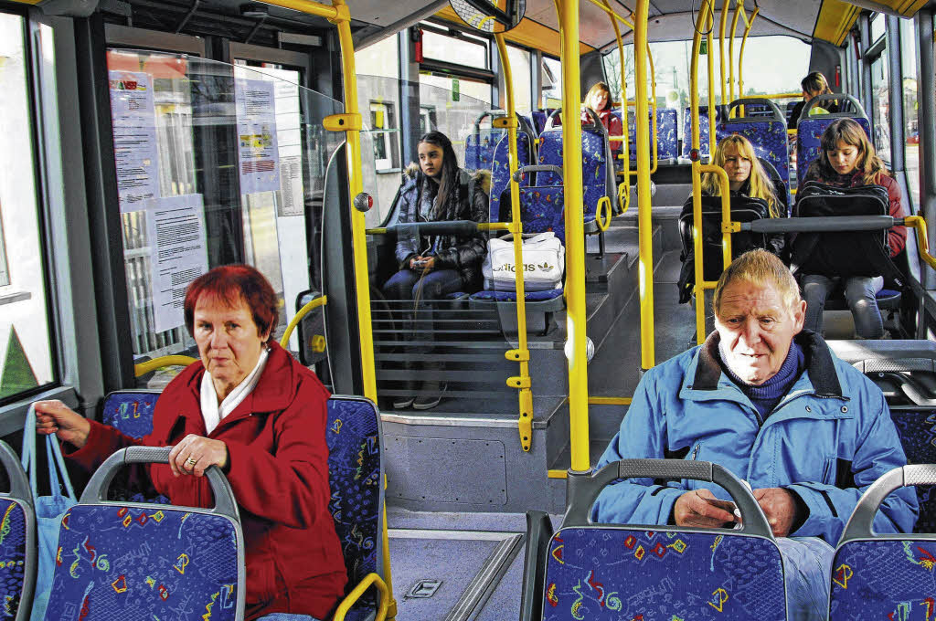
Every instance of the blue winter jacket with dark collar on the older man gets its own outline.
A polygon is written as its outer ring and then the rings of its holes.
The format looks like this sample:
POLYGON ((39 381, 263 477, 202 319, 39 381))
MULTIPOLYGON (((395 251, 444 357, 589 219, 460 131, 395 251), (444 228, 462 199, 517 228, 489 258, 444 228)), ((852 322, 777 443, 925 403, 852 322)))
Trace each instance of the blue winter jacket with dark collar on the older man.
MULTIPOLYGON (((835 545, 858 498, 890 469, 907 463, 884 394, 842 362, 812 332, 797 335, 806 370, 761 421, 751 400, 722 372, 718 333, 651 368, 597 468, 626 458, 665 457, 715 462, 753 489, 784 487, 809 508, 792 535, 835 545)), ((681 494, 715 484, 629 479, 608 485, 593 508, 595 521, 672 523, 681 494)), ((910 532, 918 513, 912 488, 901 488, 874 518, 878 533, 910 532)))

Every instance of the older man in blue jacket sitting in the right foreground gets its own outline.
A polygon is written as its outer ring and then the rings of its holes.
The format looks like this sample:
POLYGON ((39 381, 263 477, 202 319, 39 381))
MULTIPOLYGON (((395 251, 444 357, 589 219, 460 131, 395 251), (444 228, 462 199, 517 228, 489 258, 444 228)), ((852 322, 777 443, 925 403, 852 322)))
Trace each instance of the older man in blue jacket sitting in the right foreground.
MULTIPOLYGON (((711 461, 751 485, 784 559, 791 619, 826 615, 832 546, 865 489, 907 463, 882 392, 803 332, 806 302, 780 259, 744 253, 713 299, 716 331, 651 368, 598 462, 665 457, 711 461), (792 536, 792 537, 791 537, 792 536)), ((723 527, 729 499, 700 481, 609 485, 594 505, 602 523, 723 527)), ((909 532, 914 490, 889 496, 878 533, 909 532)))

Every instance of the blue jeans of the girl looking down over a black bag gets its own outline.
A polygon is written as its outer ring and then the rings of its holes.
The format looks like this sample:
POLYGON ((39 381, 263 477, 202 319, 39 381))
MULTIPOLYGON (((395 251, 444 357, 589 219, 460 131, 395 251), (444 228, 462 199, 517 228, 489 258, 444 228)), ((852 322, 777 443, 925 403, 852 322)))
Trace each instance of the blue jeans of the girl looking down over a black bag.
POLYGON ((826 297, 844 282, 845 301, 855 318, 855 332, 861 339, 880 339, 884 336, 884 321, 874 296, 884 287, 881 276, 851 276, 828 278, 819 274, 803 277, 803 299, 806 300, 806 322, 803 327, 822 333, 822 312, 826 297))

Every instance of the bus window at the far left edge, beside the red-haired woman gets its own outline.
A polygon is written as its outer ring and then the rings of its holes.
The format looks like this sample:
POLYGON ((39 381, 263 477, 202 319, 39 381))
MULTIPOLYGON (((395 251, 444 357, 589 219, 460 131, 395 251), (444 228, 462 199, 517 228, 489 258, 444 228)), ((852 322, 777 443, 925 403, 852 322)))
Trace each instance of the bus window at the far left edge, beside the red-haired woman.
MULTIPOLYGON (((28 55, 19 15, 0 13, 0 402, 55 380, 37 200, 28 55)), ((92 320, 93 321, 93 320, 92 320)))

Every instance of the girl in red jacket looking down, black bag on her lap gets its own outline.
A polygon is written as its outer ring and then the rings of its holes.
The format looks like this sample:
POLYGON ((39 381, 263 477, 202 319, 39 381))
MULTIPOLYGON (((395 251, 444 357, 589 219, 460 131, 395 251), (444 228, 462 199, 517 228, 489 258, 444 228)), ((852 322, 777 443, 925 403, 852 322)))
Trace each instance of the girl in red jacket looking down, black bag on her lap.
MULTIPOLYGON (((822 155, 810 165, 800 183, 806 181, 821 181, 839 187, 880 185, 887 190, 890 215, 895 218, 907 215, 900 204, 900 186, 874 152, 865 130, 852 119, 839 119, 826 127, 822 136, 822 155)), ((905 226, 887 229, 887 246, 891 258, 903 252, 906 243, 905 226)), ((884 278, 881 276, 850 276, 843 279, 835 274, 806 274, 801 286, 803 299, 806 300, 805 327, 808 329, 822 332, 826 297, 841 286, 855 318, 858 338, 880 339, 884 336, 884 322, 875 300, 877 292, 884 288, 884 278)))

